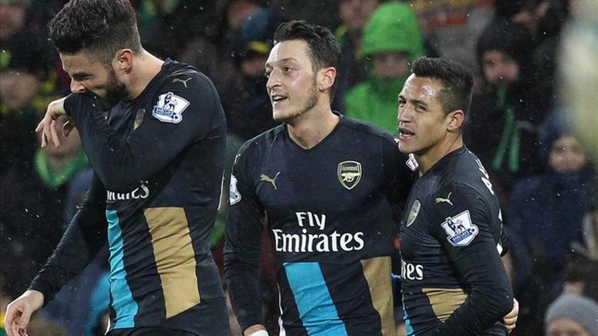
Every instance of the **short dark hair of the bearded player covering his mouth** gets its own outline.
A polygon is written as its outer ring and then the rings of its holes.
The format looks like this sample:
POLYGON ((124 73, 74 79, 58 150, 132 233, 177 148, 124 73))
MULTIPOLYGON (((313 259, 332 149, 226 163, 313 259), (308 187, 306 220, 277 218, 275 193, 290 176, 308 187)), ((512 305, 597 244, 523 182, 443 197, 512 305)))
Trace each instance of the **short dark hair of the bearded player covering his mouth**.
POLYGON ((141 51, 137 17, 129 0, 71 0, 50 22, 59 53, 86 51, 109 64, 124 48, 141 51))

